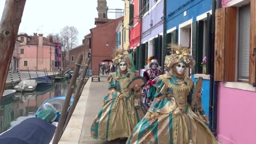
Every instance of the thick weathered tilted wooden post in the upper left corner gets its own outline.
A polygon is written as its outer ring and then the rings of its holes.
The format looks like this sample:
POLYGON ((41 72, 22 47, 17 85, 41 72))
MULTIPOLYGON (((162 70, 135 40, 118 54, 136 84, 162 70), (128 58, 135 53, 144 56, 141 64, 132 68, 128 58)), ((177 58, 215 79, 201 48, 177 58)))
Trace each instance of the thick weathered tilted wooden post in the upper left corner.
POLYGON ((6 0, 0 21, 0 101, 26 0, 6 0))

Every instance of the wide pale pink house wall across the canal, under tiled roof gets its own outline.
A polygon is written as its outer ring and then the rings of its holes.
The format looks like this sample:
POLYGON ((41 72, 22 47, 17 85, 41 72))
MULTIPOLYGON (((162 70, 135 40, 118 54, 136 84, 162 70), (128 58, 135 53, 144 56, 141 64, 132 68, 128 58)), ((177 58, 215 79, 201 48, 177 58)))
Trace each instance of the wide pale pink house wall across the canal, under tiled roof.
POLYGON ((37 67, 37 71, 43 71, 44 68, 46 68, 47 71, 50 71, 50 68, 52 70, 51 61, 55 60, 54 46, 24 45, 21 46, 20 49, 22 48, 24 49, 24 54, 20 54, 20 57, 22 58, 19 62, 20 70, 27 70, 27 67, 29 68, 29 70, 36 70, 35 67, 37 67), (24 61, 28 61, 27 66, 24 66, 24 61))

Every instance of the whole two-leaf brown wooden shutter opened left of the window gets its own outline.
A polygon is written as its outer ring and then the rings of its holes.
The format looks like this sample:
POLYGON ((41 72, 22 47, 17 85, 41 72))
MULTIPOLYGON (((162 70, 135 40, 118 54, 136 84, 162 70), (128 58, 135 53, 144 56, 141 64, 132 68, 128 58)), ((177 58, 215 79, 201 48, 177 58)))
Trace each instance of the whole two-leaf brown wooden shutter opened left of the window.
POLYGON ((214 80, 235 81, 236 7, 219 8, 215 15, 214 80))

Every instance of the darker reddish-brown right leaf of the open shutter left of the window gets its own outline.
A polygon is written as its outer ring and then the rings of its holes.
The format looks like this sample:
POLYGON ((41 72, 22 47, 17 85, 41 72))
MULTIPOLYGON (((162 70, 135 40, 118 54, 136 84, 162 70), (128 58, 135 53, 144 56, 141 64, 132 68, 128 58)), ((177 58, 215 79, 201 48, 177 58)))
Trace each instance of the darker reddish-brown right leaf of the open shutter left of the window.
POLYGON ((237 8, 227 7, 224 80, 235 81, 237 8))

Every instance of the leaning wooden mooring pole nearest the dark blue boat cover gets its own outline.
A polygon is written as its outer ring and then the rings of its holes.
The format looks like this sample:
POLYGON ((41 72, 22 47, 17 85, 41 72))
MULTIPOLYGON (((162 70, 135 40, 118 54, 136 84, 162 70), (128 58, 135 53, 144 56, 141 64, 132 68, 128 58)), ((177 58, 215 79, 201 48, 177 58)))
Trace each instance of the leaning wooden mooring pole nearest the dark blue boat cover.
POLYGON ((59 139, 60 139, 60 136, 61 136, 61 128, 63 127, 66 116, 67 116, 67 108, 69 107, 70 98, 71 98, 73 90, 75 88, 75 83, 76 83, 76 80, 77 80, 79 69, 81 67, 82 60, 83 60, 83 56, 81 54, 79 54, 77 62, 75 64, 74 74, 73 74, 73 76, 71 78, 71 81, 69 83, 69 88, 67 90, 67 96, 66 96, 65 101, 64 101, 64 106, 61 109, 61 117, 60 117, 58 126, 57 126, 56 131, 55 131, 55 135, 54 135, 54 138, 53 138, 53 144, 58 144, 58 142, 59 142, 59 139))

